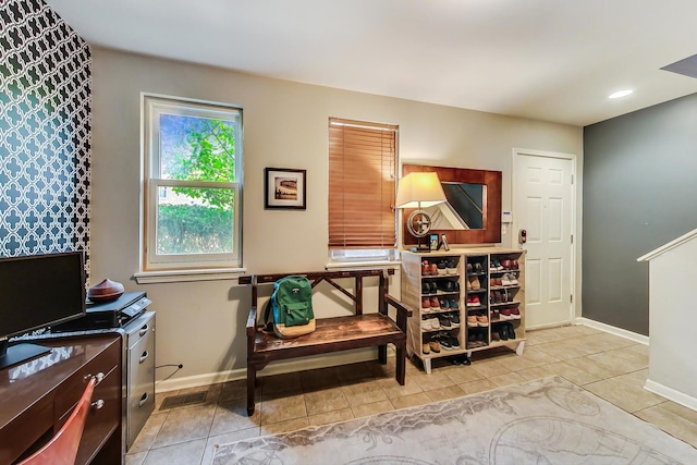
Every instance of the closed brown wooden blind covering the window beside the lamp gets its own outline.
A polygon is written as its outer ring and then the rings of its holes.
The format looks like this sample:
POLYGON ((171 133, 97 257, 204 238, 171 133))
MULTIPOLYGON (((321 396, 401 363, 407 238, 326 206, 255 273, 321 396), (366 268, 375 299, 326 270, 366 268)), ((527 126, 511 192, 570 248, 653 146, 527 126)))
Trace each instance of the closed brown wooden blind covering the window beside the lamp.
POLYGON ((329 247, 396 247, 398 126, 329 119, 329 247))

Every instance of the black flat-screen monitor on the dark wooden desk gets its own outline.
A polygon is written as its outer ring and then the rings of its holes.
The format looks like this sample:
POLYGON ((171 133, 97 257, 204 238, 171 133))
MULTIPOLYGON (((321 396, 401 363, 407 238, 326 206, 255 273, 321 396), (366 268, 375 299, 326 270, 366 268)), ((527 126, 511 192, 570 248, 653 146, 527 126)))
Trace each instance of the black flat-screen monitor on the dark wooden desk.
POLYGON ((13 335, 85 315, 82 252, 0 258, 0 369, 50 352, 13 335))

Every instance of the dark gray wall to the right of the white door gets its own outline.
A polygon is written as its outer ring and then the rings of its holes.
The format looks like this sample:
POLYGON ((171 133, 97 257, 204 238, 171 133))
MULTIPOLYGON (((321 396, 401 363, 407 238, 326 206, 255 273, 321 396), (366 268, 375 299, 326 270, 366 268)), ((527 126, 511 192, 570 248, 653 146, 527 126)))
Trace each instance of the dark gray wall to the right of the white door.
POLYGON ((584 129, 584 317, 648 335, 636 259, 696 228, 697 94, 584 129))

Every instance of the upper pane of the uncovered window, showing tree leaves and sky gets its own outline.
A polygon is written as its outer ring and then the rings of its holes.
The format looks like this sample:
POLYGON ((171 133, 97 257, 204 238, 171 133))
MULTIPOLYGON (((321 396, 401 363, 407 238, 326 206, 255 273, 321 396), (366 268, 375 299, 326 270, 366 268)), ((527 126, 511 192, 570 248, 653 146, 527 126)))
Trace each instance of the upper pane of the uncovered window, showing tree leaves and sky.
POLYGON ((160 114, 160 178, 234 182, 235 122, 160 114))

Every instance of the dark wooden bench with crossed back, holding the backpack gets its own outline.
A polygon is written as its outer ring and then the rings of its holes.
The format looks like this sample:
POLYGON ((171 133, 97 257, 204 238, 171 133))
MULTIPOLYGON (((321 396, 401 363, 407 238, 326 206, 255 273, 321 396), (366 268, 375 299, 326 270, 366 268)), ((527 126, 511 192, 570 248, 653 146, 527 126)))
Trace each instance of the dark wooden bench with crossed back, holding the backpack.
POLYGON ((404 386, 406 320, 412 316, 412 310, 389 294, 388 274, 394 274, 394 270, 318 271, 240 277, 240 284, 252 284, 252 308, 247 318, 247 414, 254 414, 257 371, 273 360, 377 346, 380 363, 387 364, 387 344, 394 344, 396 348, 395 379, 404 386), (322 310, 315 304, 316 330, 313 333, 294 339, 279 339, 274 334, 259 331, 257 328, 258 285, 274 283, 290 274, 306 277, 313 289, 322 281, 331 284, 353 301, 354 314, 344 317, 321 318, 322 310), (364 315, 363 280, 369 277, 379 278, 378 313, 364 315), (354 280, 353 293, 335 281, 346 278, 354 280), (388 306, 396 309, 396 321, 388 315, 388 306))

